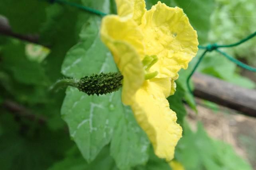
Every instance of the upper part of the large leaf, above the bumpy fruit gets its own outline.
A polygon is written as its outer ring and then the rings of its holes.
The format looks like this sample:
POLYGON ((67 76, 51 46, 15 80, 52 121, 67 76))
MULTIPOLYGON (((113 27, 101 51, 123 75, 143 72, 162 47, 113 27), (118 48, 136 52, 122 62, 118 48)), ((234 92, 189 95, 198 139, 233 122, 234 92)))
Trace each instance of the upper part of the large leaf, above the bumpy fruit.
POLYGON ((81 42, 73 46, 63 62, 61 72, 69 77, 81 78, 85 75, 106 71, 116 71, 116 66, 108 49, 98 35, 100 18, 92 17, 83 26, 81 42))

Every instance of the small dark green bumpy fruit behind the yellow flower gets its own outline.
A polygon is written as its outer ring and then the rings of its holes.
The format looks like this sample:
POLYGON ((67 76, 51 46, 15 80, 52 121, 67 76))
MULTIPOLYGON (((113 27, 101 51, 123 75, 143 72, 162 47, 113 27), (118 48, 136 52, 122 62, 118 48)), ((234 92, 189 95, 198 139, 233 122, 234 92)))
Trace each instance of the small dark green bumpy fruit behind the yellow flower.
POLYGON ((103 95, 120 89, 122 79, 120 72, 93 74, 81 78, 77 88, 87 95, 103 95))

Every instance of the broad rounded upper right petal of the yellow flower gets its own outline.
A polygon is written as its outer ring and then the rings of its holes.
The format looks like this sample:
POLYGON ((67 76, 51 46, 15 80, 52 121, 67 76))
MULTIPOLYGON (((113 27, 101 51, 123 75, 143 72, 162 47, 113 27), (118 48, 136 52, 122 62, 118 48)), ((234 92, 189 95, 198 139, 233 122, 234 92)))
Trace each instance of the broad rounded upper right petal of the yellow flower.
POLYGON ((175 77, 197 53, 197 33, 181 8, 158 2, 144 14, 140 27, 146 54, 158 56, 151 68, 151 72, 158 71, 157 77, 175 77))

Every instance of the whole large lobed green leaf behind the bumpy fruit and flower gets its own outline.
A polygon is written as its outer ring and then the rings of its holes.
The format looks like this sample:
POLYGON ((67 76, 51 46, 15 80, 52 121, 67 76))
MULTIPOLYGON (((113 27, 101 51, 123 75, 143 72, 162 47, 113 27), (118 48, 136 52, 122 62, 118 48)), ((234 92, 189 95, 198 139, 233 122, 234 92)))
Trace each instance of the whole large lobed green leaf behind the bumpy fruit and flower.
MULTIPOLYGON (((110 52, 100 41, 99 25, 98 17, 84 25, 81 42, 69 50, 63 62, 64 75, 79 79, 92 73, 117 71, 110 52)), ((96 157, 112 135, 110 153, 119 168, 128 169, 147 161, 148 139, 130 108, 123 106, 120 91, 88 96, 69 88, 66 93, 61 109, 63 119, 87 161, 96 157)))

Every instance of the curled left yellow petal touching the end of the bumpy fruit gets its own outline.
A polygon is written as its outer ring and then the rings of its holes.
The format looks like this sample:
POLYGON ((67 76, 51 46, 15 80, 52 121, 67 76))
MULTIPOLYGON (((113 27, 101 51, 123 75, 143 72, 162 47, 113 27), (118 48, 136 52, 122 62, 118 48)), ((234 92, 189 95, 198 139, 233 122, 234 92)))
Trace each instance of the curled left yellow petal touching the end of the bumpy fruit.
POLYGON ((114 61, 124 76, 122 102, 131 104, 133 95, 144 81, 144 69, 140 56, 144 56, 142 34, 131 19, 123 20, 117 15, 102 19, 101 39, 114 56, 114 61))

